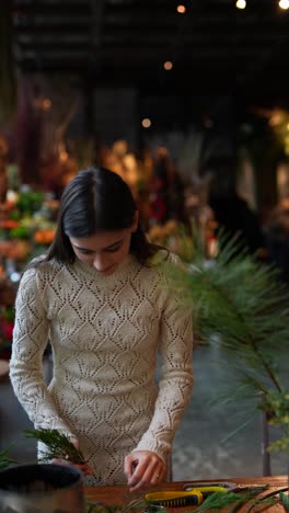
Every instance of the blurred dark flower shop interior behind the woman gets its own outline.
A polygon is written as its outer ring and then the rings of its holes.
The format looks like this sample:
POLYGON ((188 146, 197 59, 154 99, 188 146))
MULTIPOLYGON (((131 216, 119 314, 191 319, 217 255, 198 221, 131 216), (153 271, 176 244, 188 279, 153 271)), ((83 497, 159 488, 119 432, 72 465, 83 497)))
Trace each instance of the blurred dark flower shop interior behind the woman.
MULTIPOLYGON (((80 169, 118 172, 151 240, 175 249, 193 219, 211 260, 224 227, 288 282, 288 47, 286 0, 0 3, 0 449, 27 424, 5 364, 16 286, 53 240, 61 192, 80 169)), ((197 344, 178 479, 263 472, 258 417, 220 443, 232 418, 223 408, 213 422, 208 406, 226 378, 216 369, 207 383, 213 351, 197 344)), ((22 459, 35 454, 21 447, 22 459)))

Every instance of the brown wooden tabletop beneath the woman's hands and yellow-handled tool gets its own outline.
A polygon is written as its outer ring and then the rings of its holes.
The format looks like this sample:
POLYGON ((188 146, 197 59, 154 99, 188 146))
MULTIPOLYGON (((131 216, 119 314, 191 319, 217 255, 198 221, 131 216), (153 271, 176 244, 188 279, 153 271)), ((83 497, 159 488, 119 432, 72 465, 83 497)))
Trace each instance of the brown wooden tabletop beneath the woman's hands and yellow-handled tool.
MULTIPOLYGON (((269 476, 269 477, 248 477, 248 478, 233 478, 233 479, 217 479, 217 480, 209 480, 208 482, 233 482, 239 488, 245 488, 247 486, 263 486, 268 485, 269 489, 266 492, 279 490, 289 486, 289 477, 288 476, 269 476)), ((170 483, 163 483, 154 488, 153 490, 183 490, 184 485, 193 482, 197 486, 198 481, 176 481, 170 483)), ((207 480, 206 480, 207 482, 207 480)), ((152 491, 150 489, 150 491, 152 491)), ((288 493, 288 492, 286 492, 288 493)), ((128 504, 130 501, 139 498, 143 498, 144 493, 141 492, 134 492, 130 493, 128 488, 125 486, 117 486, 117 487, 96 487, 96 488, 86 488, 85 489, 85 497, 90 502, 103 502, 107 505, 116 505, 116 504, 128 504)), ((243 506, 241 510, 238 510, 238 513, 246 512, 248 509, 248 504, 243 506)), ((196 506, 186 506, 186 508, 174 508, 170 509, 171 512, 181 513, 184 511, 194 511, 196 506)), ((232 505, 228 509, 223 509, 223 512, 230 512, 232 510, 232 505)), ((284 513, 285 510, 281 505, 274 505, 274 506, 259 506, 258 509, 255 508, 252 513, 256 513, 257 511, 262 512, 270 512, 270 513, 284 513)))

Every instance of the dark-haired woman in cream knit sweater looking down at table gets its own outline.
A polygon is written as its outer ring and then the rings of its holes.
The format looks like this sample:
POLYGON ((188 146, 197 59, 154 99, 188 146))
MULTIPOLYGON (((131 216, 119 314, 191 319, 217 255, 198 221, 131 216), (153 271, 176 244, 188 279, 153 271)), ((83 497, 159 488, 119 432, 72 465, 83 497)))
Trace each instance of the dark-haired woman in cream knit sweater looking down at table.
POLYGON ((193 387, 192 311, 169 286, 167 262, 174 255, 148 242, 128 185, 90 168, 66 186, 56 237, 21 280, 11 383, 35 428, 81 449, 86 485, 137 490, 166 479, 193 387))

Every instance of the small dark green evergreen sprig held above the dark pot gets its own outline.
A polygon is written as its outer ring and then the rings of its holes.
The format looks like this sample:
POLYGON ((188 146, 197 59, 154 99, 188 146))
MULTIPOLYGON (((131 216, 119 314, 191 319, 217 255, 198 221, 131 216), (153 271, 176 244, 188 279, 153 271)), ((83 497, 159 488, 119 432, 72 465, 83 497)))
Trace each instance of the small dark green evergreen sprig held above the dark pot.
POLYGON ((66 434, 60 433, 58 430, 24 430, 24 433, 26 438, 35 438, 46 445, 47 449, 41 458, 42 461, 50 461, 56 458, 68 459, 77 465, 85 464, 81 451, 72 444, 66 434))

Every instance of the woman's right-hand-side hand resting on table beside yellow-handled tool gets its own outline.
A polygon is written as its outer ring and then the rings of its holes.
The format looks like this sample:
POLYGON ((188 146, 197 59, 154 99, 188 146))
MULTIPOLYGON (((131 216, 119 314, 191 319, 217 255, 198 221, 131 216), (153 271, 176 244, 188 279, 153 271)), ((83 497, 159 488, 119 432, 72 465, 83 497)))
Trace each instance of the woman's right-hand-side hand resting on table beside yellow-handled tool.
POLYGON ((161 482, 166 474, 163 460, 150 451, 135 451, 125 458, 125 475, 130 491, 161 482))

